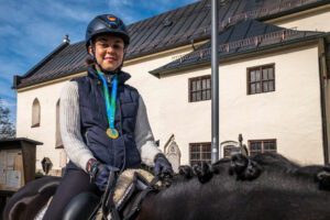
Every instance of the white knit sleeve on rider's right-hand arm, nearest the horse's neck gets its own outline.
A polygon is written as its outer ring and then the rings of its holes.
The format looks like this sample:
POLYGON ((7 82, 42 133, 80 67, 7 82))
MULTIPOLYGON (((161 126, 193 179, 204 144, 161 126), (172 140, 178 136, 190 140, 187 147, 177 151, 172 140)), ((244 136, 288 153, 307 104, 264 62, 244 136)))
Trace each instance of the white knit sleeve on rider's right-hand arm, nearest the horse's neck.
POLYGON ((142 163, 154 166, 155 155, 162 153, 157 147, 148 123, 146 108, 142 97, 139 99, 139 109, 135 124, 135 143, 140 151, 142 163))

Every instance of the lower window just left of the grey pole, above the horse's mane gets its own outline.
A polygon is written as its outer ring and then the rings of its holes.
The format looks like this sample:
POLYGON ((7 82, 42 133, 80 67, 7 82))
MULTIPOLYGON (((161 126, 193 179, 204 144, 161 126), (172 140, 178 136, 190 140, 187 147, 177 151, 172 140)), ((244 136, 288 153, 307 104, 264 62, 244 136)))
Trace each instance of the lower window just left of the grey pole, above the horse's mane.
POLYGON ((198 162, 211 163, 211 143, 194 143, 189 144, 190 148, 190 165, 198 162))

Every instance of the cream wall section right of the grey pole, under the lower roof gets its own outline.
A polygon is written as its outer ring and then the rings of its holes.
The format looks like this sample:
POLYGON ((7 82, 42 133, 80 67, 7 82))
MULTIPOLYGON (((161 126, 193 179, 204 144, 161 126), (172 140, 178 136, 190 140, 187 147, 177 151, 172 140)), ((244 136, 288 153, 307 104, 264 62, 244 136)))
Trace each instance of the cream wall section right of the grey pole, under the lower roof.
POLYGON ((323 163, 317 46, 223 66, 220 106, 221 142, 238 132, 244 140, 276 139, 278 153, 323 163), (246 96, 246 68, 271 63, 275 91, 246 96))

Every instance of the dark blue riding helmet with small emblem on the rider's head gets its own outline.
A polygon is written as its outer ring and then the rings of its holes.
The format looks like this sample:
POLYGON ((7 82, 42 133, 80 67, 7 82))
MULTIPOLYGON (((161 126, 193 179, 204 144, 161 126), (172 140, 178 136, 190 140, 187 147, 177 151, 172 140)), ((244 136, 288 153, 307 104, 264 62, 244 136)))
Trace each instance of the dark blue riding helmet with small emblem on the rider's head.
POLYGON ((87 50, 92 37, 103 33, 121 37, 125 46, 130 44, 130 35, 122 20, 112 14, 102 14, 96 16, 87 26, 85 38, 87 50))

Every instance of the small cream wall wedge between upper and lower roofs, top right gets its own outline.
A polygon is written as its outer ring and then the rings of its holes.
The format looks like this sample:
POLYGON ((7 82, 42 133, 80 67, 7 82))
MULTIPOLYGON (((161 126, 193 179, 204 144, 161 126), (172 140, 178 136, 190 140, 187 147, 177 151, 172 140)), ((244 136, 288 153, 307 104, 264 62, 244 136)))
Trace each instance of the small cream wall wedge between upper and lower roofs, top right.
POLYGON ((287 19, 268 21, 274 25, 283 26, 286 29, 297 29, 298 31, 321 31, 329 32, 330 25, 330 7, 322 7, 319 10, 309 13, 300 13, 300 15, 287 19))

